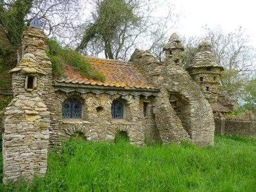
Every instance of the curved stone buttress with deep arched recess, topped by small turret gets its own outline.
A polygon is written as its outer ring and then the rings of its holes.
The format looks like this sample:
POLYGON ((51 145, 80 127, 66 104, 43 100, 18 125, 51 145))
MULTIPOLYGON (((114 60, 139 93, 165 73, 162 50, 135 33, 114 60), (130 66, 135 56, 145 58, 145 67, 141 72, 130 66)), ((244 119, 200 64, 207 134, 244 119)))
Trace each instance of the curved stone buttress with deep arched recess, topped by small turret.
POLYGON ((175 33, 164 51, 166 59, 162 65, 151 61, 146 65, 147 58, 138 50, 131 58, 143 75, 150 76, 160 89, 153 112, 161 140, 179 143, 187 139, 201 146, 214 144, 215 125, 210 105, 198 84, 181 67, 184 49, 175 33))

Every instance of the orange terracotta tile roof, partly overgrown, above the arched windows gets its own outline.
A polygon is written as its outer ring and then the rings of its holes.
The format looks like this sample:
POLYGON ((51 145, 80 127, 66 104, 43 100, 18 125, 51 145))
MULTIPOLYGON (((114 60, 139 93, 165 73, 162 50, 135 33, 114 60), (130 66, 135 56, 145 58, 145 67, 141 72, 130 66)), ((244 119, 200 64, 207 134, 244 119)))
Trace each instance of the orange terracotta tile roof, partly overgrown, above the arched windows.
POLYGON ((144 76, 139 72, 138 68, 135 67, 132 62, 94 57, 84 58, 91 62, 94 67, 105 76, 105 80, 103 82, 81 76, 71 67, 63 70, 63 76, 55 77, 54 80, 64 83, 90 84, 117 88, 121 87, 124 89, 156 89, 153 84, 144 78, 144 76))

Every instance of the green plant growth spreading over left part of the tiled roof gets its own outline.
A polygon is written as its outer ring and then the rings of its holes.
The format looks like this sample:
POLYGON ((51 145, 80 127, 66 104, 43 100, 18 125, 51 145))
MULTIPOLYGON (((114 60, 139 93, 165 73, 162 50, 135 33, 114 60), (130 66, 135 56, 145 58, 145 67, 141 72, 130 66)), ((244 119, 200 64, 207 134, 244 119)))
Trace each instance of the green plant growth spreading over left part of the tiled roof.
POLYGON ((49 51, 47 51, 48 56, 52 59, 53 75, 61 76, 61 69, 71 66, 87 78, 100 81, 104 80, 104 76, 76 51, 69 47, 62 48, 54 39, 49 39, 46 43, 49 46, 49 51))

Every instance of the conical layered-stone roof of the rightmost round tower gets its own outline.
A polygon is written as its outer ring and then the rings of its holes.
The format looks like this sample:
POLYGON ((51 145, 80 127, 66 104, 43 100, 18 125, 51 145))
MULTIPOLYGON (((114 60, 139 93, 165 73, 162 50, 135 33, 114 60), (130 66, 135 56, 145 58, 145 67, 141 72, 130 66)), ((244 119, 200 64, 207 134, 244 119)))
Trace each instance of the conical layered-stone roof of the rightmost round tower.
POLYGON ((224 70, 212 52, 211 45, 205 40, 199 44, 197 53, 186 69, 199 67, 219 67, 221 71, 224 70))

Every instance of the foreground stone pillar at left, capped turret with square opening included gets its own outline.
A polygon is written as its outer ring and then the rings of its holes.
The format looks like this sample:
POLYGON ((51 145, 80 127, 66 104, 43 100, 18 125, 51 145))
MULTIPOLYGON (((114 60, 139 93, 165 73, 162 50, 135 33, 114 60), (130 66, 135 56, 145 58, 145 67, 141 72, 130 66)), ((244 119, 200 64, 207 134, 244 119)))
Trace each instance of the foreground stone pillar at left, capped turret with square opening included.
POLYGON ((47 170, 50 112, 41 98, 45 72, 36 57, 27 53, 10 70, 14 99, 4 112, 4 178, 17 181, 35 175, 44 177, 47 170))

